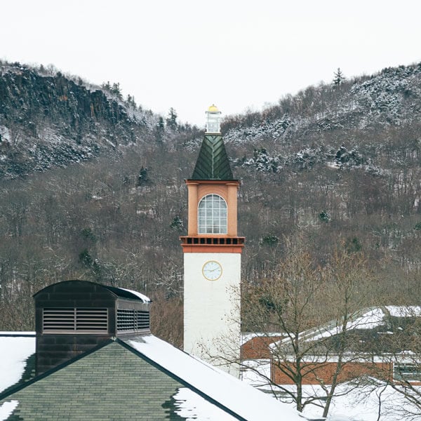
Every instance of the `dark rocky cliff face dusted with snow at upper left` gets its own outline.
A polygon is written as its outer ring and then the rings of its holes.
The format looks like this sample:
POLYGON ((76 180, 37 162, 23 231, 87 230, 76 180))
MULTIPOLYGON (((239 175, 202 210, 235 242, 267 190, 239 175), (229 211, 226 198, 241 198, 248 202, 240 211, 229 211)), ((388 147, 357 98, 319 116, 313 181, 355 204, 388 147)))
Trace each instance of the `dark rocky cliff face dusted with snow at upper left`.
POLYGON ((0 67, 0 178, 67 165, 145 140, 151 113, 58 72, 0 67))

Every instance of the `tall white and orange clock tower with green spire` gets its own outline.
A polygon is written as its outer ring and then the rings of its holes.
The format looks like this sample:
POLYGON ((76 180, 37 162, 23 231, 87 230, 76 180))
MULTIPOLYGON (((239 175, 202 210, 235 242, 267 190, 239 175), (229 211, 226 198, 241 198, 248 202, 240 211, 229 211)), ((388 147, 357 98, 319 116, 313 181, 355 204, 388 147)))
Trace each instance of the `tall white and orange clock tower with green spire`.
POLYGON ((184 252, 184 349, 239 375, 241 251, 237 190, 220 133, 220 111, 206 112, 206 133, 188 190, 184 252))

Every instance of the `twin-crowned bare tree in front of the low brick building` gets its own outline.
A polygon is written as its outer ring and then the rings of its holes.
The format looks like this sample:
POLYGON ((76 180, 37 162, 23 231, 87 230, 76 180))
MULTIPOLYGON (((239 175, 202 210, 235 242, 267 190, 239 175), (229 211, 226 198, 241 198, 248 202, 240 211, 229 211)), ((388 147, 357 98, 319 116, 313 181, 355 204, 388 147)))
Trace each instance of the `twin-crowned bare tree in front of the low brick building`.
MULTIPOLYGON (((341 246, 320 267, 302 238, 295 238, 286 241, 272 276, 243 291, 246 330, 268 340, 271 332, 284 335, 271 345, 271 373, 261 377, 275 394, 288 396, 300 411, 309 404, 320 406, 326 417, 333 398, 351 392, 352 387, 339 392, 338 385, 356 377, 352 364, 361 354, 353 330, 364 321, 355 318, 355 311, 368 304, 370 283, 373 276, 360 253, 341 246), (319 385, 324 397, 305 392, 306 384, 319 385)), ((259 373, 258 366, 243 364, 259 373)))

